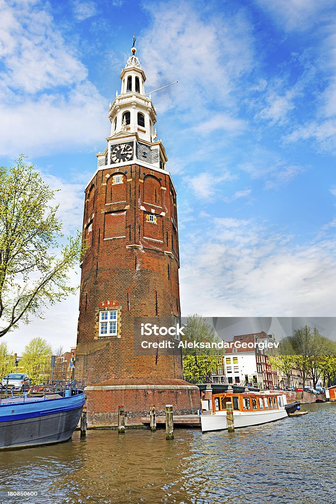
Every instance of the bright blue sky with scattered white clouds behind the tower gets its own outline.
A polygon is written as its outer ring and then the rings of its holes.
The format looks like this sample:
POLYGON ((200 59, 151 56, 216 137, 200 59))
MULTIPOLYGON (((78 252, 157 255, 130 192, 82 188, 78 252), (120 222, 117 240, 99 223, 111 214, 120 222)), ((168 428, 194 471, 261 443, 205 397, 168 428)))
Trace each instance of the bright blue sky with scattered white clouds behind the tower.
MULTIPOLYGON (((0 0, 0 162, 20 153, 64 229, 106 146, 136 33, 178 191, 183 314, 334 316, 336 35, 331 0, 0 0)), ((74 278, 79 283, 79 278, 74 278)), ((75 344, 78 298, 5 338, 75 344)))

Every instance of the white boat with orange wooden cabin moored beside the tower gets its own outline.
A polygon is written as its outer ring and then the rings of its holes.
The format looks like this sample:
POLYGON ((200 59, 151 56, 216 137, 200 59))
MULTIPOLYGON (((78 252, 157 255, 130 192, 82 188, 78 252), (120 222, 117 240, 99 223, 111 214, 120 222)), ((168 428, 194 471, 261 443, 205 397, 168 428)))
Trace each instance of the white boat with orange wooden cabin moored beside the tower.
POLYGON ((222 393, 212 396, 212 411, 202 412, 202 432, 227 429, 226 404, 231 403, 235 428, 260 425, 287 417, 286 396, 273 393, 222 393))

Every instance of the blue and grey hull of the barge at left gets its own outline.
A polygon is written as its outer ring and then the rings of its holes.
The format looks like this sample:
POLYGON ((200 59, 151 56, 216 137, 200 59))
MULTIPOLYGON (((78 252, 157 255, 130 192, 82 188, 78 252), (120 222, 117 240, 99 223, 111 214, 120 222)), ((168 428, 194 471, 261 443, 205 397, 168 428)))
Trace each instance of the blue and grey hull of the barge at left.
MULTIPOLYGON (((66 400, 60 399, 58 401, 66 400)), ((0 450, 27 448, 67 441, 79 422, 83 404, 84 400, 77 400, 72 405, 73 407, 68 404, 64 409, 57 408, 57 411, 55 411, 55 408, 53 408, 54 411, 43 410, 39 414, 37 414, 38 405, 35 404, 33 405, 35 406, 34 412, 31 412, 28 417, 27 414, 20 414, 21 408, 18 405, 13 406, 15 413, 18 413, 16 418, 0 421, 0 450)), ((8 418, 8 416, 4 418, 8 418)))

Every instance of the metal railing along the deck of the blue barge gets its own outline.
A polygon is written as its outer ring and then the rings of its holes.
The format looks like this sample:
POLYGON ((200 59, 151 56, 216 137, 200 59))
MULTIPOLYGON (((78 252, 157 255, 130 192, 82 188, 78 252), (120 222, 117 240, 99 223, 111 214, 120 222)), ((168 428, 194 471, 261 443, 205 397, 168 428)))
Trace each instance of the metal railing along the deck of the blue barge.
POLYGON ((3 399, 23 398, 20 402, 31 400, 33 397, 48 399, 52 394, 59 394, 62 397, 70 397, 83 392, 85 383, 83 380, 52 380, 43 382, 38 379, 30 379, 29 388, 23 391, 3 387, 0 391, 0 405, 3 399), (18 392, 18 394, 15 394, 18 392))

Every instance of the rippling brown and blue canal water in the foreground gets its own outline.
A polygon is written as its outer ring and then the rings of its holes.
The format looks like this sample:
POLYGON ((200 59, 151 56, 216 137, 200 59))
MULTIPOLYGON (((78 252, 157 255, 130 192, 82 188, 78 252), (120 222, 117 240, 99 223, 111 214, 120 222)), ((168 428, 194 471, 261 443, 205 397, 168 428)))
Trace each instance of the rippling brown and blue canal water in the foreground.
POLYGON ((336 403, 228 432, 88 430, 0 453, 0 501, 19 504, 335 504, 336 403), (8 492, 37 492, 15 496, 8 492))

